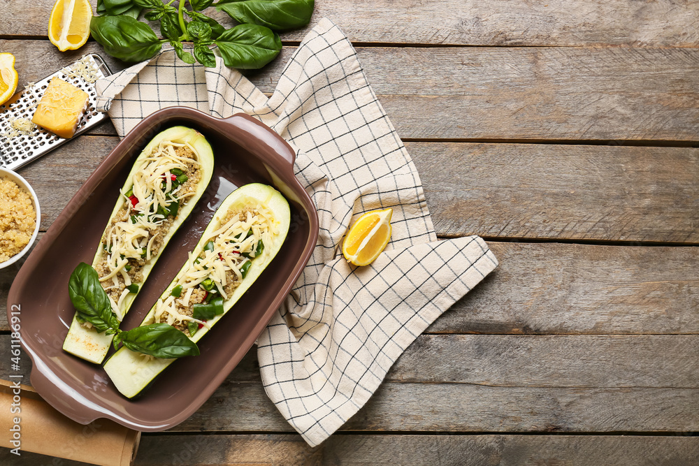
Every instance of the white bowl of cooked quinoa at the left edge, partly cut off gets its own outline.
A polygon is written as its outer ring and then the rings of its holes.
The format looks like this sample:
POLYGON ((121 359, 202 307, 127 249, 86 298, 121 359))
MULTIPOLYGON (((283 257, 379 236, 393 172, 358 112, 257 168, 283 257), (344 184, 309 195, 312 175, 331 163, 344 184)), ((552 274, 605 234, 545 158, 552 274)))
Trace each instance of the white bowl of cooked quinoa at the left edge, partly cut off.
POLYGON ((0 268, 18 261, 36 240, 41 213, 34 189, 0 168, 0 268))

